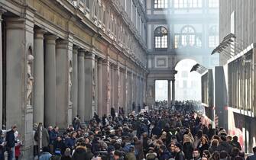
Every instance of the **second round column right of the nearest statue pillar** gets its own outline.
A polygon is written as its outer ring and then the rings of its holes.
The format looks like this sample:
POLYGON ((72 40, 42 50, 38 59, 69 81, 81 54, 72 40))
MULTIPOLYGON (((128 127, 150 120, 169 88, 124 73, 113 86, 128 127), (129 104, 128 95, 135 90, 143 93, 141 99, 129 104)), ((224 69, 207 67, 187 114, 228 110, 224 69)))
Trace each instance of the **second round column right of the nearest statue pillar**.
POLYGON ((56 125, 56 40, 54 35, 45 36, 45 82, 44 122, 45 126, 56 125))

